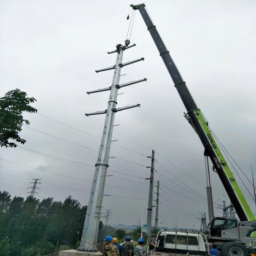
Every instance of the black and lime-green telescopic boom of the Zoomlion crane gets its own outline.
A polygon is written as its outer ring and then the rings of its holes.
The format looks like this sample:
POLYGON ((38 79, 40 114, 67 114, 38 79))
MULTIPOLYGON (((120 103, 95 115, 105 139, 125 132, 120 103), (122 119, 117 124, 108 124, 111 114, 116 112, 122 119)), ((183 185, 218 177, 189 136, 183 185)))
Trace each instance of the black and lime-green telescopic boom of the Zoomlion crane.
POLYGON ((131 4, 131 7, 134 10, 139 10, 147 26, 147 30, 150 32, 160 53, 160 56, 172 78, 174 86, 176 87, 181 100, 185 105, 187 110, 185 117, 188 119, 189 123, 198 134, 205 148, 205 155, 210 157, 240 221, 254 221, 255 217, 252 213, 252 210, 250 209, 250 206, 248 205, 236 179, 228 167, 227 161, 225 160, 218 144, 213 138, 212 133, 208 127, 207 120, 204 118, 201 110, 198 108, 196 102, 191 96, 186 86, 186 82, 183 80, 179 70, 175 66, 175 63, 170 56, 168 49, 163 43, 163 40, 161 39, 156 29, 156 26, 153 24, 150 16, 148 15, 145 9, 145 4, 131 4))

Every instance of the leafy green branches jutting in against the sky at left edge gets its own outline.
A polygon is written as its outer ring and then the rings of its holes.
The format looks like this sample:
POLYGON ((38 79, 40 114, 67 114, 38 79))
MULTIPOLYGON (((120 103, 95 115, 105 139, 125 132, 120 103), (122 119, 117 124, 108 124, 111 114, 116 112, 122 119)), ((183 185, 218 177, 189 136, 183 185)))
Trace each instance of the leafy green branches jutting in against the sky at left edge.
POLYGON ((30 103, 37 101, 36 99, 28 98, 25 91, 20 89, 11 90, 0 98, 0 145, 5 147, 16 147, 17 144, 9 142, 9 139, 20 142, 26 141, 19 137, 19 132, 22 130, 23 122, 29 125, 29 121, 23 119, 22 112, 35 113, 37 112, 30 103))

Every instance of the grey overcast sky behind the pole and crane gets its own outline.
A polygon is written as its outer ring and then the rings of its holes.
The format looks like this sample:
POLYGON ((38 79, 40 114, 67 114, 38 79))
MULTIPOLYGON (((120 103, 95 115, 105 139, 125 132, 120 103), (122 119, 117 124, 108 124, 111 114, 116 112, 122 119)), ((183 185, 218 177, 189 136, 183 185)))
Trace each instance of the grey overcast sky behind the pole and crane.
MULTIPOLYGON (((0 1, 0 97, 19 88, 37 99, 33 106, 38 109, 38 114, 25 114, 30 125, 20 135, 27 143, 1 148, 0 190, 26 197, 32 179, 41 179, 40 200, 63 201, 71 195, 88 204, 105 115, 84 114, 105 110, 109 91, 86 91, 111 85, 113 71, 95 70, 114 65, 116 54, 107 52, 124 43, 129 4, 139 3, 0 1)), ((252 179, 252 165, 256 178, 256 2, 145 4, 210 127, 247 177, 252 179)), ((106 178, 104 194, 111 196, 104 197, 103 209, 111 209, 112 224, 139 222, 149 190, 145 166, 151 159, 146 156, 153 149, 155 181, 161 188, 159 225, 171 228, 177 222, 178 227, 199 228, 196 217, 207 212, 204 148, 183 117, 185 107, 139 12, 131 43, 137 46, 124 52, 123 62, 145 61, 124 67, 120 83, 144 77, 147 82, 119 90, 124 94, 118 96, 118 107, 140 103, 141 108, 115 115, 119 126, 112 140, 118 141, 110 154, 116 158, 109 161, 108 175, 113 176, 106 178)), ((236 169, 253 195, 251 184, 236 169)), ((256 213, 252 197, 234 175, 256 213)), ((228 205, 229 199, 214 172, 211 182, 215 215, 222 216, 218 204, 225 200, 228 205)))

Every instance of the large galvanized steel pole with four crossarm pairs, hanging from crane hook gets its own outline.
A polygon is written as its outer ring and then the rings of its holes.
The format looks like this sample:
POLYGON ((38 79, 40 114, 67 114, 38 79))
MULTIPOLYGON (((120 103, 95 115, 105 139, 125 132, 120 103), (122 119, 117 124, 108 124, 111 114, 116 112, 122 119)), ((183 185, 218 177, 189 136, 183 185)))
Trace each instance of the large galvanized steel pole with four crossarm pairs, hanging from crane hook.
POLYGON ((119 84, 120 72, 122 67, 144 60, 144 58, 140 58, 137 60, 122 63, 123 52, 126 49, 131 48, 135 45, 136 44, 133 44, 130 46, 122 46, 121 44, 118 44, 116 46, 115 51, 108 52, 108 54, 117 53, 115 65, 109 68, 96 70, 96 73, 114 69, 114 75, 113 75, 111 86, 103 89, 87 92, 87 94, 91 94, 91 93, 97 93, 100 91, 110 90, 110 97, 108 102, 108 108, 106 110, 85 114, 86 116, 106 114, 106 118, 105 118, 103 133, 102 133, 102 139, 100 143, 98 160, 95 165, 96 168, 94 173, 93 184, 91 186, 90 198, 88 202, 88 209, 85 217, 81 243, 80 243, 80 247, 77 249, 78 251, 97 252, 96 244, 97 244, 99 223, 100 223, 100 217, 101 217, 101 208, 102 208, 102 200, 103 200, 103 193, 104 193, 105 180, 106 180, 106 171, 107 171, 107 168, 109 167, 108 162, 109 162, 109 153, 110 153, 115 113, 121 110, 126 110, 126 109, 140 106, 140 104, 136 104, 131 106, 125 106, 122 108, 116 108, 118 89, 131 84, 136 84, 142 81, 146 81, 146 79, 144 78, 141 80, 132 81, 125 84, 119 84))

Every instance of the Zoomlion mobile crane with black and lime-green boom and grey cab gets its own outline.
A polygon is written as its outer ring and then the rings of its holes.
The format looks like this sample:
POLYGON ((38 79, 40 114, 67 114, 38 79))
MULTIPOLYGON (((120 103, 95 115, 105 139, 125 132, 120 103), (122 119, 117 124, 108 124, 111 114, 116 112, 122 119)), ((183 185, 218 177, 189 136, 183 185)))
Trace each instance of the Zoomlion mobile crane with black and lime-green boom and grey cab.
POLYGON ((191 96, 186 82, 183 80, 156 26, 145 9, 145 4, 130 5, 133 10, 139 10, 153 41, 165 63, 183 104, 187 110, 186 119, 198 134, 203 146, 204 155, 209 156, 222 184, 240 219, 226 217, 212 217, 210 219, 207 236, 209 242, 214 242, 223 255, 247 256, 255 254, 255 249, 245 247, 245 242, 256 242, 256 219, 250 209, 227 161, 225 160, 217 142, 212 136, 208 122, 191 96))

